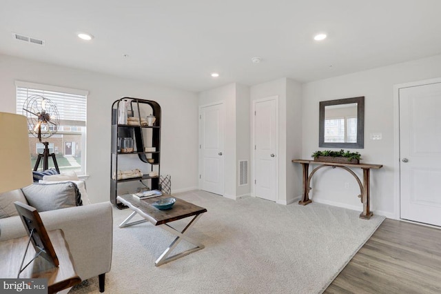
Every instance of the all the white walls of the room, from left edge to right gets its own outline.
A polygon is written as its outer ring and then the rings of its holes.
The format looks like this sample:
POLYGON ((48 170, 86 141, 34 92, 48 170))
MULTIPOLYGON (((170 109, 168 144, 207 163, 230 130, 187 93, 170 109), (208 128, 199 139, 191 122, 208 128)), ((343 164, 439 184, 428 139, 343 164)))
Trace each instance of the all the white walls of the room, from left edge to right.
MULTIPOLYGON (((290 203, 300 195, 300 165, 291 164, 291 159, 310 159, 311 153, 320 149, 319 101, 365 96, 365 148, 356 151, 362 154, 362 162, 384 165, 380 170, 371 171, 372 210, 396 217, 394 193, 397 191, 393 183, 394 160, 398 159, 393 158, 396 148, 393 136, 398 127, 393 124, 393 85, 436 77, 441 77, 441 55, 314 81, 302 84, 301 89, 296 81, 286 78, 250 87, 248 108, 256 99, 279 97, 278 185, 281 197, 278 202, 290 203), (382 133, 382 140, 370 140, 370 133, 382 133)), ((198 105, 225 101, 228 129, 225 168, 232 171, 226 173, 225 194, 235 198, 246 193, 237 186, 236 173, 238 159, 247 156, 242 146, 249 145, 249 138, 242 136, 247 133, 244 123, 249 121, 244 112, 247 106, 241 98, 247 96, 246 86, 229 84, 196 95, 143 81, 0 55, 0 111, 15 111, 16 80, 89 91, 87 171, 90 177, 87 184, 92 202, 109 199, 111 105, 125 96, 151 99, 161 104, 161 173, 172 175, 174 192, 198 186, 198 105)), ((250 172, 252 175, 251 169, 250 172)), ((361 171, 357 173, 361 176, 361 171)), ((249 180, 252 182, 253 177, 249 180)), ((320 170, 313 184, 311 196, 314 201, 362 209, 356 197, 360 192, 355 179, 344 170, 320 170), (349 189, 344 188, 346 182, 349 189)))

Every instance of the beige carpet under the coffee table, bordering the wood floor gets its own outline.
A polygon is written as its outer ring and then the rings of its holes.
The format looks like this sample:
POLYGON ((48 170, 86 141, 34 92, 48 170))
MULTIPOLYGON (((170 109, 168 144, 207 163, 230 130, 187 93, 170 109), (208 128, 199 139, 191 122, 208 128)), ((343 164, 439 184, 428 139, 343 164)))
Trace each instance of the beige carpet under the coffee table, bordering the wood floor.
MULTIPOLYGON (((360 211, 324 204, 234 201, 198 190, 175 196, 207 208, 189 231, 205 248, 156 267, 174 236, 150 223, 118 228, 131 210, 114 209, 105 293, 321 293, 384 219, 364 220, 360 211)), ((98 278, 69 293, 99 293, 98 278)))

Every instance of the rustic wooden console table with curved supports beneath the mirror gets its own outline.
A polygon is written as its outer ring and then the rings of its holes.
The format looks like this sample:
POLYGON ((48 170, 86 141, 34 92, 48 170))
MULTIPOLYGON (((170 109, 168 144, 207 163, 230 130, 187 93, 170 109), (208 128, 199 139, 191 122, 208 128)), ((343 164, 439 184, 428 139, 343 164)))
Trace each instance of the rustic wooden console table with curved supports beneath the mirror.
POLYGON ((315 160, 305 160, 305 159, 293 159, 292 162, 298 163, 302 165, 302 200, 298 202, 300 205, 307 205, 311 203, 311 199, 309 199, 309 190, 311 187, 309 186, 309 182, 311 182, 311 178, 320 168, 324 168, 326 166, 331 166, 332 168, 342 168, 347 170, 353 177, 356 178, 358 186, 360 186, 360 200, 363 204, 363 212, 360 213, 360 218, 369 219, 373 215, 370 210, 370 196, 369 196, 369 172, 371 168, 379 169, 382 168, 382 164, 340 164, 335 162, 325 162, 325 161, 315 161, 315 160), (314 168, 311 174, 309 174, 309 164, 320 164, 320 166, 314 168), (356 173, 354 173, 351 168, 361 168, 363 170, 363 182, 360 181, 356 173), (309 175, 308 175, 309 174, 309 175))

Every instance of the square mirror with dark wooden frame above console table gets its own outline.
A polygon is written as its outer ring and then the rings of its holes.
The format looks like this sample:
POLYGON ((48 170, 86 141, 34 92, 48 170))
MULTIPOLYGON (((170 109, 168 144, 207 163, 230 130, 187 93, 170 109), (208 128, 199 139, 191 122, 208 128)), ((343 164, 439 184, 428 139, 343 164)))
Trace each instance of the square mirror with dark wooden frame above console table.
POLYGON ((365 148, 365 97, 320 101, 318 146, 365 148))

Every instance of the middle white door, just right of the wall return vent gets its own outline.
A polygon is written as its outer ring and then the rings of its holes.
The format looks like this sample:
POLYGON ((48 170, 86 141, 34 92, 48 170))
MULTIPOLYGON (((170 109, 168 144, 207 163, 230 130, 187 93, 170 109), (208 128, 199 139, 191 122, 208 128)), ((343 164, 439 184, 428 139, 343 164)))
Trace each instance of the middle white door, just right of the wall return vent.
POLYGON ((254 196, 276 201, 277 97, 254 101, 254 196))

